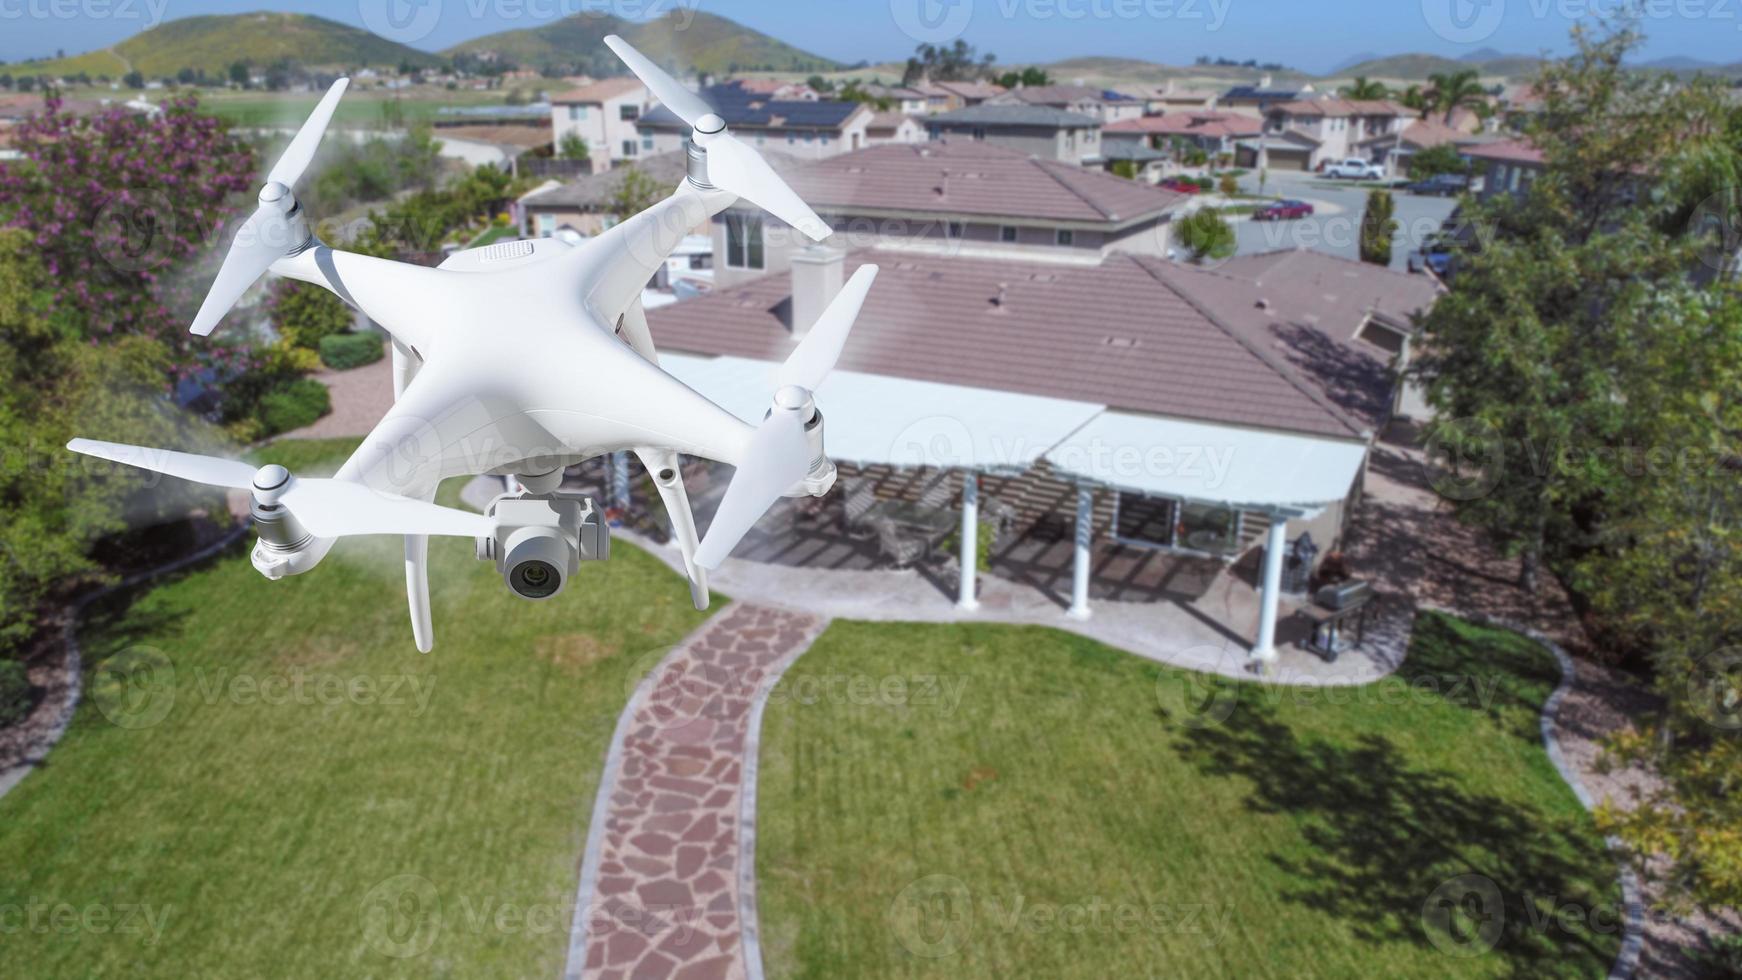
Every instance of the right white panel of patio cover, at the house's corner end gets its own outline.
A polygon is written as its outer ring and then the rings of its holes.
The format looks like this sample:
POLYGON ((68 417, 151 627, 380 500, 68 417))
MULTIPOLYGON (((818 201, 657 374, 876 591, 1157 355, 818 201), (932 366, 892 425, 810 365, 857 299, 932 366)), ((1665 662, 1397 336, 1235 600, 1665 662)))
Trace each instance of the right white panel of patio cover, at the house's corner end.
POLYGON ((1366 454, 1359 442, 1104 413, 1045 458, 1113 489, 1308 515, 1348 496, 1366 454))

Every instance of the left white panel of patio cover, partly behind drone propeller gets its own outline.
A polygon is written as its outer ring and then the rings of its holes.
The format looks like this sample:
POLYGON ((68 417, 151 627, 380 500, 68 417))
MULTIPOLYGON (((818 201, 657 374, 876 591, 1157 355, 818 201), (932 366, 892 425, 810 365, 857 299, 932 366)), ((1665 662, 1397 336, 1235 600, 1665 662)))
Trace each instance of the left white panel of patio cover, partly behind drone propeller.
MULTIPOLYGON (((766 360, 660 353, 660 367, 747 423, 773 397, 766 360)), ((1106 406, 836 371, 817 390, 836 461, 1023 472, 1106 406)))

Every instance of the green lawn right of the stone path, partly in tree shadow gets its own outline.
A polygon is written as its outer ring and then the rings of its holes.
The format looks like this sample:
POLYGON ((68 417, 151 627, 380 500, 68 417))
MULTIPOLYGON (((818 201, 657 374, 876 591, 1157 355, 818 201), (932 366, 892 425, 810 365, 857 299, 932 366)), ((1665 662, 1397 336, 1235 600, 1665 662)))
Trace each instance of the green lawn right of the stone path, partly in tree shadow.
POLYGON ((1333 691, 836 623, 765 717, 768 975, 1601 977, 1620 896, 1538 742, 1557 675, 1432 614, 1399 675, 1333 691), (1481 905, 1423 921, 1460 876, 1503 900, 1491 950, 1460 943, 1481 905))

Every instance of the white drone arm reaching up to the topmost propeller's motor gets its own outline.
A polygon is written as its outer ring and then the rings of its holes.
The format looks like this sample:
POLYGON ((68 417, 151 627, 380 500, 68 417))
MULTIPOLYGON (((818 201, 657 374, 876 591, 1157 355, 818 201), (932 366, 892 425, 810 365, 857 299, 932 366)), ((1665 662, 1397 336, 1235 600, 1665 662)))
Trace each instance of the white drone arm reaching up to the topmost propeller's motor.
POLYGON ((683 238, 735 200, 728 191, 704 190, 685 178, 665 200, 585 242, 571 261, 592 310, 615 324, 683 238))

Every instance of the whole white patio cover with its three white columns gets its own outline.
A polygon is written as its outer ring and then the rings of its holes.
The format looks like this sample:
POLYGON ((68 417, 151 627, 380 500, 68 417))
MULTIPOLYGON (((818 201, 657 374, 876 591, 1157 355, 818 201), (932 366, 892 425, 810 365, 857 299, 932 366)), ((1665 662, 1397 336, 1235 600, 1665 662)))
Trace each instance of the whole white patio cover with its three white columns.
MULTIPOLYGON (((744 421, 758 423, 775 364, 662 353, 660 367, 744 421)), ((1094 541, 1094 489, 1207 503, 1272 517, 1265 540, 1252 660, 1275 660, 1287 520, 1345 500, 1366 446, 1108 411, 1106 406, 989 388, 836 371, 817 392, 829 456, 859 467, 962 470, 958 606, 977 606, 979 473, 1028 472, 1040 460, 1077 482, 1077 534, 1068 614, 1085 620, 1094 541)))

